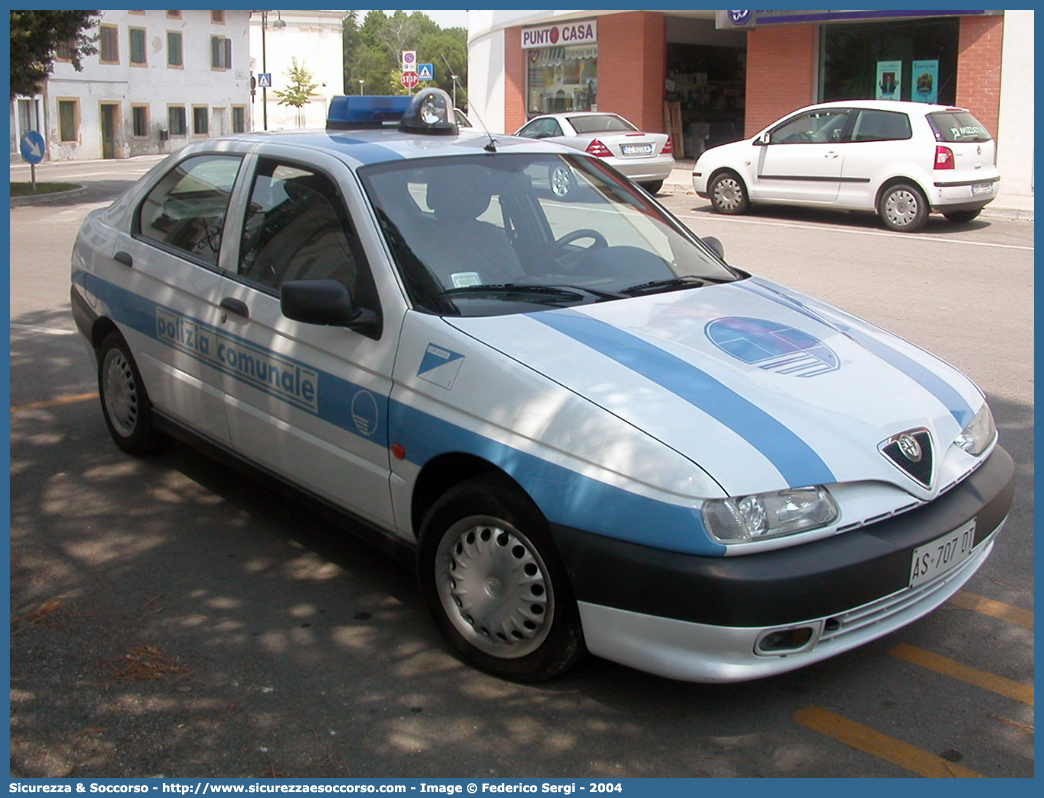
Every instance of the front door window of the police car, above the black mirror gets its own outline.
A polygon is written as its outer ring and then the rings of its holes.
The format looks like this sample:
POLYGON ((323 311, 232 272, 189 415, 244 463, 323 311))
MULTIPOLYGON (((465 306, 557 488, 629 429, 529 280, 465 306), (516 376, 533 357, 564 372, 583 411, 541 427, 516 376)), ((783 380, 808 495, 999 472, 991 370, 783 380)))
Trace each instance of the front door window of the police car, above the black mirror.
POLYGON ((356 303, 376 291, 337 189, 325 174, 263 159, 239 248, 239 275, 278 289, 287 280, 339 280, 356 303))

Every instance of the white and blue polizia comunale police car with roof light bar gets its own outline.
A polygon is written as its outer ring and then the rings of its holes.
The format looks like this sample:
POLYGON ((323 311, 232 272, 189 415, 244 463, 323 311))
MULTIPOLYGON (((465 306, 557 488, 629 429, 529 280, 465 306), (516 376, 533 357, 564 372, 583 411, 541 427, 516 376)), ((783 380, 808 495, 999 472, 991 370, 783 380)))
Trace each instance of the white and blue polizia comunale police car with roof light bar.
POLYGON ((822 660, 944 603, 1012 503, 956 370, 437 90, 170 156, 86 219, 72 306, 118 446, 351 516, 507 679, 822 660))

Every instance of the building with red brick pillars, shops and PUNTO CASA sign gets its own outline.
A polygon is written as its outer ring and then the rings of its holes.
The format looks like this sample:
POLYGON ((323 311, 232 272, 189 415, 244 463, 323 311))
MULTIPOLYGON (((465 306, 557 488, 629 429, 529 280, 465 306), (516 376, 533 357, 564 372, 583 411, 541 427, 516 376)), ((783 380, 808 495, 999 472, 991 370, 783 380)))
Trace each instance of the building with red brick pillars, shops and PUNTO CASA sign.
POLYGON ((956 104, 997 139, 998 206, 1031 210, 1033 15, 473 10, 469 104, 508 133, 541 113, 614 111, 673 133, 689 159, 813 102, 956 104))

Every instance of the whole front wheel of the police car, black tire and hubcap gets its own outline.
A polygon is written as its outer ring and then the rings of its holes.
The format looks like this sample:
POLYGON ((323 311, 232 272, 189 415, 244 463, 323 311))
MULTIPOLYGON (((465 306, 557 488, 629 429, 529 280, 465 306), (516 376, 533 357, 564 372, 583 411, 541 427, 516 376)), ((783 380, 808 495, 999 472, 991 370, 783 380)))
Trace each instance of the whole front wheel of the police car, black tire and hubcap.
POLYGON ((539 682, 587 654, 547 521, 503 477, 470 479, 434 503, 421 531, 418 574, 440 631, 480 671, 539 682))

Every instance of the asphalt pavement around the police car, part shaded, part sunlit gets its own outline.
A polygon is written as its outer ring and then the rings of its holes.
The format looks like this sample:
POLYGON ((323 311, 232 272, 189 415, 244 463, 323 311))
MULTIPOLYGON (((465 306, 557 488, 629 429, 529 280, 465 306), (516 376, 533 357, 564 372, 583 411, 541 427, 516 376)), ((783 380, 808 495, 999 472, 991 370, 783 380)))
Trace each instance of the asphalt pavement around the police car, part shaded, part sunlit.
POLYGON ((592 660, 524 686, 458 662, 410 571, 350 529, 181 445, 112 444, 69 252, 87 211, 150 165, 84 167, 86 194, 10 211, 13 776, 1034 775, 1031 221, 902 235, 664 193, 731 262, 975 379, 1016 507, 952 602, 833 660, 729 686, 592 660))

